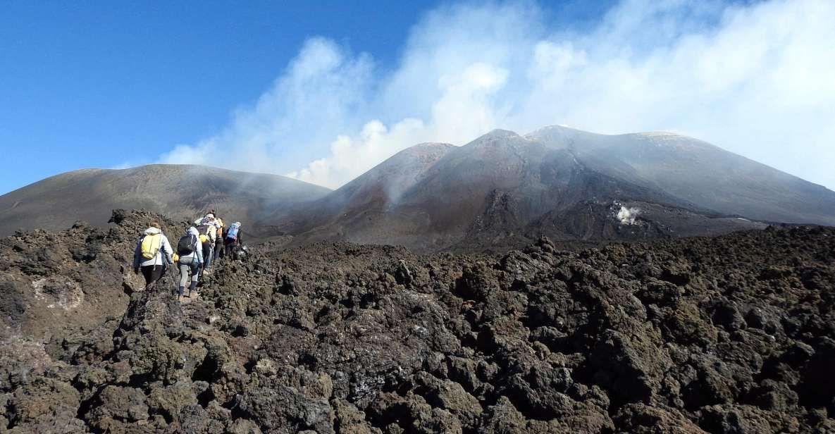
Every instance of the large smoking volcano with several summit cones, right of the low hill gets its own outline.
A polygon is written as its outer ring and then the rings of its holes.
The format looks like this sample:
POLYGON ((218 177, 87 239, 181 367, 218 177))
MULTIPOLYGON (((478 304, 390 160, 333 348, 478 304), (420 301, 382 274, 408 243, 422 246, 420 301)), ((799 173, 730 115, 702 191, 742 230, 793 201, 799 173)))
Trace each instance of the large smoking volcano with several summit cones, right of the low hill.
POLYGON ((294 244, 418 250, 716 235, 768 222, 835 225, 835 193, 678 134, 494 130, 418 144, 333 193, 275 215, 294 244))

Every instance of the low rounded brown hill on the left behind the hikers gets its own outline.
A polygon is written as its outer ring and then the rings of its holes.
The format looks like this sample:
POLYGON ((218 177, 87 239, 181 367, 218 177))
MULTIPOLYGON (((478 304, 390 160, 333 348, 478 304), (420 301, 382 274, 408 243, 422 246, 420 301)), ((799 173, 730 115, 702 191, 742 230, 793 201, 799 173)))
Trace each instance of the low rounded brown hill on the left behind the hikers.
POLYGON ((329 189, 274 174, 196 165, 151 164, 133 169, 83 169, 43 179, 0 196, 0 235, 60 230, 76 220, 106 225, 110 210, 148 209, 194 219, 215 209, 226 220, 252 222, 329 189))

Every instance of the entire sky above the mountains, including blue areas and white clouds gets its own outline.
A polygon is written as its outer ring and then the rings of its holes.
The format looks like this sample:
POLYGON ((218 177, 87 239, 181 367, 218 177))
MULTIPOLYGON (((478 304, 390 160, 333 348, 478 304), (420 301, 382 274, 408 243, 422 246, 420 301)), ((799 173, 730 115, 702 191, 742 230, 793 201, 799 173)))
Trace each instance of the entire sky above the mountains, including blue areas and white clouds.
POLYGON ((819 73, 835 66, 832 9, 7 2, 0 149, 14 164, 0 194, 154 162, 336 187, 420 141, 558 123, 675 130, 832 188, 835 88, 819 73), (205 159, 226 152, 241 157, 205 159))

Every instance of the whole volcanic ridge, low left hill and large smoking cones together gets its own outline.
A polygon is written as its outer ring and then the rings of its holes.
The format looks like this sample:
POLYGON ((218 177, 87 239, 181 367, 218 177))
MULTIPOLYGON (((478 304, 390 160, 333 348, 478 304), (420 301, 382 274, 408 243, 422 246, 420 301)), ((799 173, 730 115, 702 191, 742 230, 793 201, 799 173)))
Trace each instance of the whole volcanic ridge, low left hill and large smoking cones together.
POLYGON ((115 208, 177 219, 217 209, 246 221, 256 240, 424 251, 509 248, 541 235, 599 243, 835 225, 835 192, 703 140, 548 125, 493 129, 462 146, 416 144, 335 190, 205 166, 79 169, 0 196, 0 235, 101 226, 115 208), (629 225, 621 208, 636 209, 629 225))

